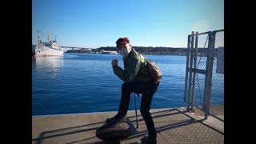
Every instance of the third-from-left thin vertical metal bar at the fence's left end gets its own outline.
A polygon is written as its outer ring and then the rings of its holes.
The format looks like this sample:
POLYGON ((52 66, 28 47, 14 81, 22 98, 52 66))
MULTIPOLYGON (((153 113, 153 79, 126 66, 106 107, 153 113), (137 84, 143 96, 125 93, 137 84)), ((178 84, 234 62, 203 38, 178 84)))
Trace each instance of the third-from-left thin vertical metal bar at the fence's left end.
MULTIPOLYGON (((194 42, 194 70, 197 69, 197 62, 198 62, 198 31, 196 32, 195 35, 195 42, 194 42)), ((194 110, 194 88, 195 88, 195 77, 196 77, 196 72, 193 74, 193 83, 192 83, 192 106, 191 110, 194 110)))

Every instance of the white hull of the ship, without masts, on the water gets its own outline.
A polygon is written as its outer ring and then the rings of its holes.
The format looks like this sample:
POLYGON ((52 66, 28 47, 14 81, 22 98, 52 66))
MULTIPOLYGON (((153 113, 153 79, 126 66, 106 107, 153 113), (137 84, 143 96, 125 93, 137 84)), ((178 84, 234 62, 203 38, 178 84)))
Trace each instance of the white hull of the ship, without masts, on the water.
POLYGON ((36 46, 34 50, 34 57, 46 57, 46 56, 62 56, 63 50, 53 49, 47 46, 36 46))

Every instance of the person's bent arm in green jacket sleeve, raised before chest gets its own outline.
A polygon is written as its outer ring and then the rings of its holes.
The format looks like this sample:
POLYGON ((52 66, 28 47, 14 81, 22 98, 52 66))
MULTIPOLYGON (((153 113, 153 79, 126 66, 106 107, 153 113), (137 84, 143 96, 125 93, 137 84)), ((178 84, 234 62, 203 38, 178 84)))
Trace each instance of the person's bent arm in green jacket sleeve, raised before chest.
POLYGON ((129 58, 125 70, 118 65, 113 66, 114 74, 124 82, 133 82, 134 78, 138 74, 140 62, 137 58, 129 58))

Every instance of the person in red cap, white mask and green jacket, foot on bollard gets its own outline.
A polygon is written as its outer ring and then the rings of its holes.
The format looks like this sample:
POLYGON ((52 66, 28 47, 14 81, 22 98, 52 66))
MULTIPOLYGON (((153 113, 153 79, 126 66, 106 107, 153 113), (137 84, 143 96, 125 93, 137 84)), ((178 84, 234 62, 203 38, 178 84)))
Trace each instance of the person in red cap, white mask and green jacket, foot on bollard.
POLYGON ((112 61, 114 74, 124 82, 122 84, 122 98, 118 108, 118 114, 113 118, 107 118, 106 122, 114 125, 126 117, 130 94, 142 94, 141 114, 146 123, 148 136, 146 139, 152 143, 157 142, 157 132, 154 128, 154 121, 150 114, 150 105, 155 92, 158 90, 159 81, 154 82, 146 66, 146 58, 139 54, 130 45, 128 38, 118 38, 116 41, 118 54, 122 55, 124 70, 118 66, 118 60, 112 61))

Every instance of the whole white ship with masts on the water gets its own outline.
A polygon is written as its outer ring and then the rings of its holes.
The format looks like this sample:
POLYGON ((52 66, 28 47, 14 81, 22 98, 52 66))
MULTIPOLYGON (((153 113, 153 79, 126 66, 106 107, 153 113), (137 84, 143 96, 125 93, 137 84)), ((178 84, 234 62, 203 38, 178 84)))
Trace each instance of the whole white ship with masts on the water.
POLYGON ((47 39, 48 42, 40 41, 38 34, 38 45, 34 48, 34 57, 62 56, 64 54, 64 50, 61 46, 58 46, 56 38, 55 41, 51 41, 50 34, 48 34, 47 39))

